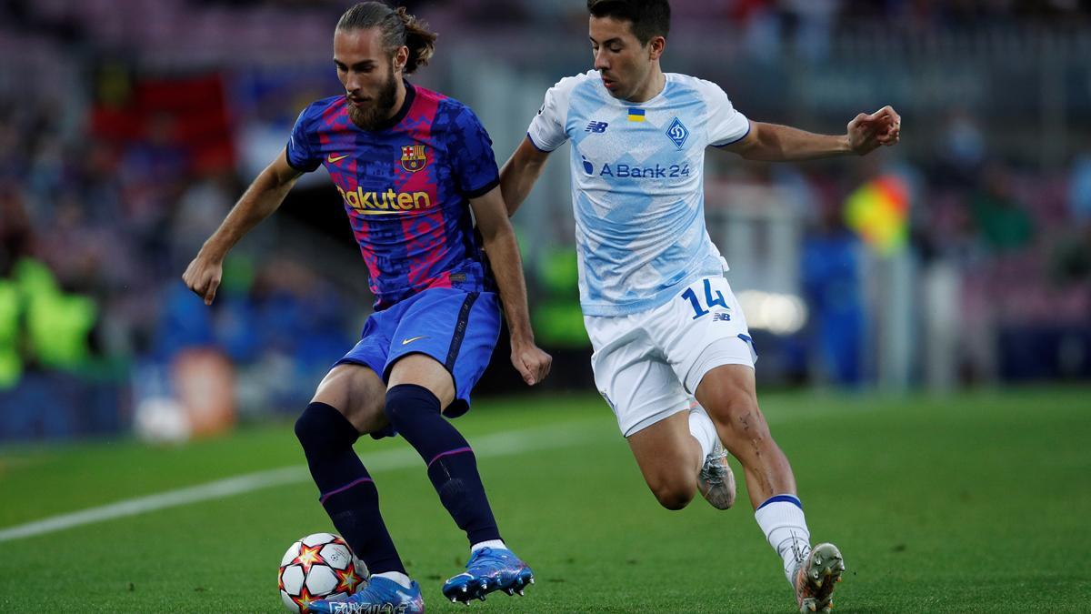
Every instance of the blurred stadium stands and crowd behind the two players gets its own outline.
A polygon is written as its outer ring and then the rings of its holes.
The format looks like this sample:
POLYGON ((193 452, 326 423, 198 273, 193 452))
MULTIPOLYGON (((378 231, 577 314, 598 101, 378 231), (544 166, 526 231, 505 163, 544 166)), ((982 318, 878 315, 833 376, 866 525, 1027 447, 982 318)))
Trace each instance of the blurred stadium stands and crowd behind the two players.
MULTIPOLYGON (((183 397, 171 365, 196 350, 227 358, 230 414, 305 403, 370 310, 328 181, 302 181, 239 246, 212 309, 180 274, 298 111, 337 93, 348 4, 0 5, 0 440, 127 429, 142 403, 183 397)), ((415 79, 470 104, 501 162, 546 87, 590 68, 582 1, 407 4, 441 34, 415 79)), ((904 118, 902 144, 864 160, 710 154, 709 228, 735 291, 805 306, 796 329, 755 331, 764 380, 1091 378, 1091 2, 672 4, 664 69, 720 83, 753 119, 904 118), (876 177, 907 187, 907 240, 887 253, 844 222, 876 177)), ((565 357, 552 389, 589 381, 565 166, 515 220, 539 338, 565 357)), ((515 380, 496 356, 482 393, 515 380)))

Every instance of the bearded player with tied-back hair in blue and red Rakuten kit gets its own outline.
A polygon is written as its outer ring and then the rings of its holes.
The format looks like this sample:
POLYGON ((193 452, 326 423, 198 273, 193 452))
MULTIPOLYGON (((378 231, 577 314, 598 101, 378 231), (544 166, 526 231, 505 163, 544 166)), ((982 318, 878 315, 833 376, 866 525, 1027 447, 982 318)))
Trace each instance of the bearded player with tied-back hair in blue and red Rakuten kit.
POLYGON ((401 435, 469 538, 466 571, 444 583, 444 595, 521 594, 533 579, 501 539, 472 450, 444 418, 469 409, 470 389, 500 334, 501 304, 512 363, 524 380, 541 381, 551 358, 533 342, 489 135, 469 108, 403 78, 427 63, 434 39, 404 8, 363 2, 349 9, 334 33, 345 94, 303 110, 285 153, 257 176, 183 274, 211 304, 228 250, 279 206, 302 173, 325 165, 367 262, 375 312, 360 342, 319 385, 296 435, 323 507, 372 576, 349 602, 315 601, 307 604, 312 612, 423 611, 420 587, 380 516, 375 484, 352 450, 364 433, 401 435))

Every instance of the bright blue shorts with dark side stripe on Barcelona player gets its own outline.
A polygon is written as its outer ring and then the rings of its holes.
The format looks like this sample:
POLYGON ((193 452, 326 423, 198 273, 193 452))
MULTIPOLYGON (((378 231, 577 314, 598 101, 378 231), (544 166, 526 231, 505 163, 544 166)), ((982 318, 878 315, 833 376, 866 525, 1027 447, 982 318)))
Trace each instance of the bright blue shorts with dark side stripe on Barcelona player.
POLYGON ((470 390, 489 366, 499 336, 500 300, 494 293, 436 287, 372 314, 360 342, 334 366, 371 367, 386 382, 398 358, 431 356, 455 382, 455 400, 443 413, 457 417, 470 409, 470 390))

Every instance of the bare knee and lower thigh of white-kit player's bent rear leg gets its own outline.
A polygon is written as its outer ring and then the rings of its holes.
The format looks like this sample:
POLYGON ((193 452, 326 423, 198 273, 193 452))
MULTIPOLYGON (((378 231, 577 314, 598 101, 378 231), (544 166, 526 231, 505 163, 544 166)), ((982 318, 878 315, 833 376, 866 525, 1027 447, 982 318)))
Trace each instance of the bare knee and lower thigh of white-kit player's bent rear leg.
POLYGON ((692 496, 700 448, 690 434, 690 412, 674 413, 626 437, 644 481, 657 495, 692 496))

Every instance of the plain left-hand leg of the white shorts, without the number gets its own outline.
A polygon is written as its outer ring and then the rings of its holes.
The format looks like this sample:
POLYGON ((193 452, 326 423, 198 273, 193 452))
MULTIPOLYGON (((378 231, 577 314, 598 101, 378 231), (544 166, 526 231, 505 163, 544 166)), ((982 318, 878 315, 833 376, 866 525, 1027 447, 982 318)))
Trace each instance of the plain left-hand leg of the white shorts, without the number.
POLYGON ((595 385, 618 417, 623 436, 690 408, 678 377, 651 345, 638 318, 587 317, 585 324, 595 347, 595 385))

